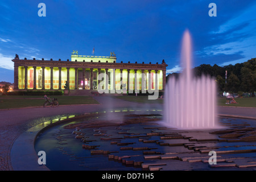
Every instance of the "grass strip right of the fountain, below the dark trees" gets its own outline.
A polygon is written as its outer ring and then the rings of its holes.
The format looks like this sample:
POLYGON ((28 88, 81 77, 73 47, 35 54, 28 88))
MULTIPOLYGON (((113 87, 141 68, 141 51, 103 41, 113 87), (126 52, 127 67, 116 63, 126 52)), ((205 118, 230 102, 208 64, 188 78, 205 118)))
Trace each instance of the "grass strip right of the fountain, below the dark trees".
POLYGON ((256 97, 234 98, 237 104, 225 104, 226 98, 218 98, 219 106, 256 107, 256 97))

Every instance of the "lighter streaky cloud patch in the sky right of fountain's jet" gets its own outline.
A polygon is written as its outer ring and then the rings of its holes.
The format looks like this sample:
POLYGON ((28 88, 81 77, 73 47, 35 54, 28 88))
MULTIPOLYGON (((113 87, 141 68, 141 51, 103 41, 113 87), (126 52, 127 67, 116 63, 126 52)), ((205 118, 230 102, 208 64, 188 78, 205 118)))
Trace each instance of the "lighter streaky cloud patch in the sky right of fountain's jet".
POLYGON ((200 63, 228 64, 242 63, 255 57, 256 4, 248 7, 241 14, 209 32, 211 46, 196 52, 200 63))

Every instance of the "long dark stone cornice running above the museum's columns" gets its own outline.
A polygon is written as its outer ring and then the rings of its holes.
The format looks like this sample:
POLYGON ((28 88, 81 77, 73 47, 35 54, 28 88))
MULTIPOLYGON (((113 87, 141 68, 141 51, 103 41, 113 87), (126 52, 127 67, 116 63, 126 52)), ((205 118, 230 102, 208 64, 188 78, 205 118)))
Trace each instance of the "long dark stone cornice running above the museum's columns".
POLYGON ((106 68, 106 69, 152 69, 166 70, 167 64, 141 64, 141 63, 97 63, 77 61, 52 60, 20 60, 13 59, 14 66, 27 67, 67 67, 67 68, 106 68))

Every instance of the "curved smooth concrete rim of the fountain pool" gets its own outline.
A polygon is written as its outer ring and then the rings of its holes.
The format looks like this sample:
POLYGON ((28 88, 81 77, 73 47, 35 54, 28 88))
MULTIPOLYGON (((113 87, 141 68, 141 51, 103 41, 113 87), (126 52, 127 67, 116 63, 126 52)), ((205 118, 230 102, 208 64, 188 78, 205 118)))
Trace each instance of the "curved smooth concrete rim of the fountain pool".
MULTIPOLYGON (((45 165, 38 164, 39 156, 36 154, 34 144, 36 138, 42 133, 43 131, 47 130, 50 127, 59 125, 63 122, 70 122, 73 119, 80 119, 85 117, 86 114, 92 113, 85 113, 81 115, 77 115, 76 117, 63 119, 61 121, 56 121, 54 123, 51 122, 44 122, 31 127, 18 138, 15 139, 13 146, 11 146, 10 151, 10 160, 11 166, 13 167, 14 171, 50 171, 45 165)), ((244 118, 244 119, 256 119, 255 117, 245 117, 240 115, 228 115, 228 114, 218 114, 218 117, 231 117, 231 118, 244 118)), ((47 163, 47 162, 46 162, 47 163)))

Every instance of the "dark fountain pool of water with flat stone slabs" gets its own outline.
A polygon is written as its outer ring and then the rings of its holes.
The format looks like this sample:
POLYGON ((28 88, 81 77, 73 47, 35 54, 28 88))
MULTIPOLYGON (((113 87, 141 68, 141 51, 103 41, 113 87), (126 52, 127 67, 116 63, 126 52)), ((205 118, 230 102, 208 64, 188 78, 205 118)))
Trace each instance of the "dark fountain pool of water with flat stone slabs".
POLYGON ((35 142, 35 150, 46 151, 46 166, 51 170, 256 167, 255 121, 221 118, 225 129, 176 130, 161 125, 161 119, 155 113, 94 114, 44 131, 35 142), (208 163, 211 150, 217 152, 217 165, 208 163))

